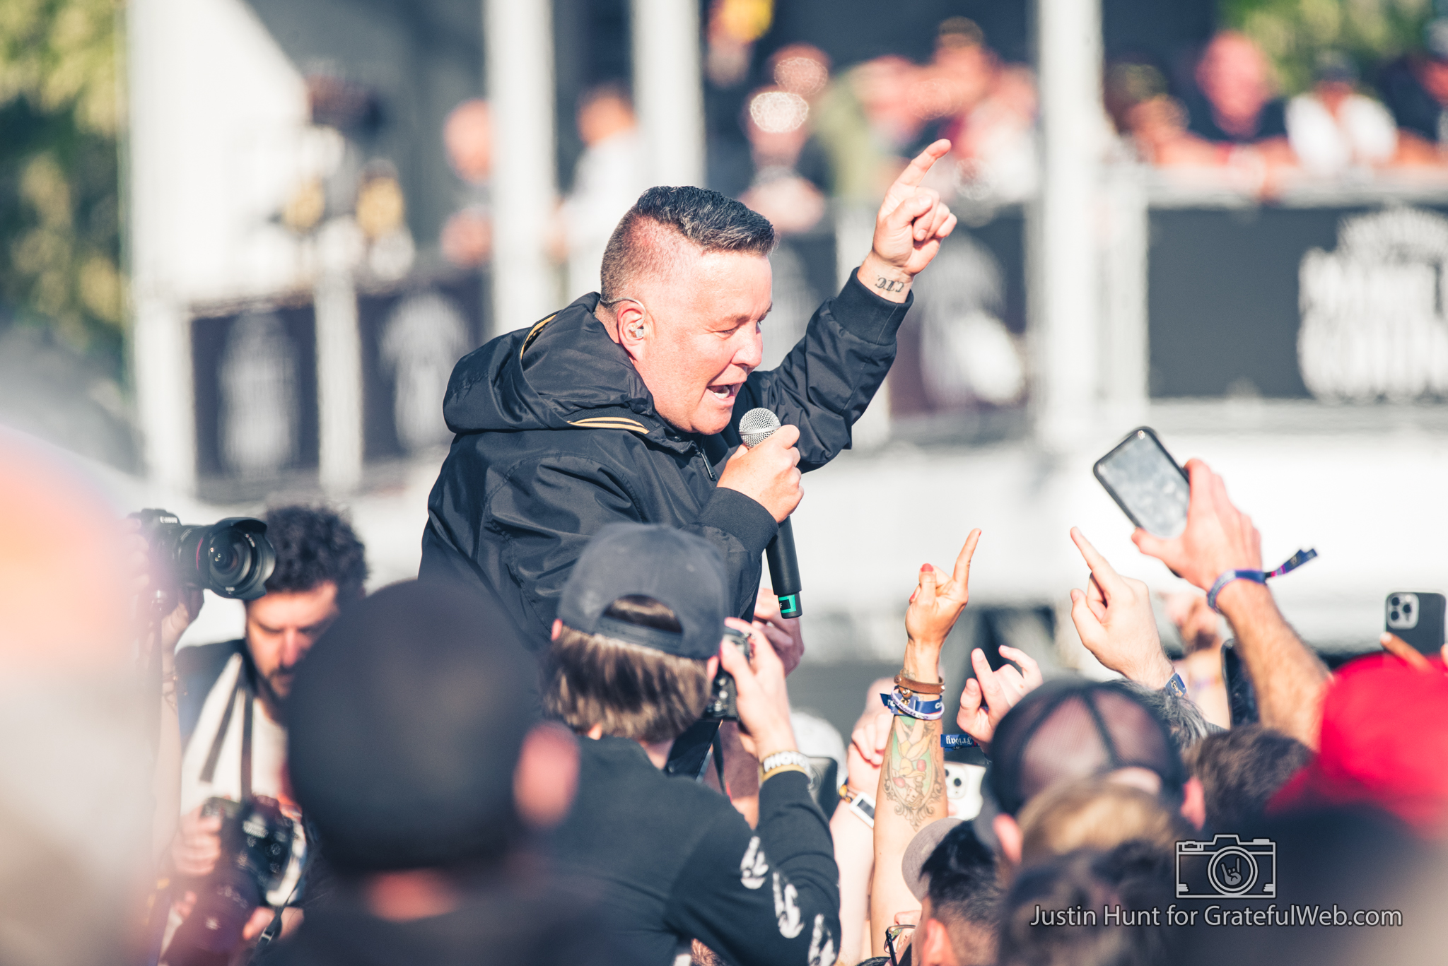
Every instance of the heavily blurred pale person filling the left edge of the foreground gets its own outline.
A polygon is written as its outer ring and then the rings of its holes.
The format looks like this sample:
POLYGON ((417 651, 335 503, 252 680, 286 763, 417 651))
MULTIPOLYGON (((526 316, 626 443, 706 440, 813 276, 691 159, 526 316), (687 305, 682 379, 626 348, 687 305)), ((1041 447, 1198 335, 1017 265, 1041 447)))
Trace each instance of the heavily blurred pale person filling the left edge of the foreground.
POLYGON ((100 490, 56 450, 0 429, 7 965, 142 959, 135 923, 153 883, 152 821, 174 827, 174 811, 153 812, 175 779, 155 775, 152 788, 158 686, 135 660, 127 569, 120 520, 100 490))

